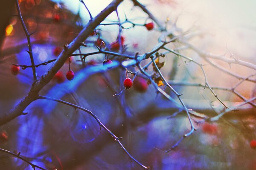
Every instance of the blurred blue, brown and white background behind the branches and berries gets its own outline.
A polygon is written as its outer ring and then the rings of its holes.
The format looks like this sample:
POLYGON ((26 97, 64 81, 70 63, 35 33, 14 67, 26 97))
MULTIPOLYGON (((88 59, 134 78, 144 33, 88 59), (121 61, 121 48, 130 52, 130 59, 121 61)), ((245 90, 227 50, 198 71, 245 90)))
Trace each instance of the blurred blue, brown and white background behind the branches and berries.
MULTIPOLYGON (((111 0, 84 1, 93 17, 103 10, 111 0)), ((20 0, 20 8, 29 32, 32 35, 32 49, 35 63, 56 59, 65 43, 70 43, 87 24, 90 17, 79 0, 20 0)), ((235 57, 256 64, 256 1, 247 0, 140 0, 146 8, 166 26, 169 33, 179 35, 188 31, 184 40, 202 51, 226 57, 235 57)), ((15 7, 15 6, 13 6, 15 7)), ((12 9, 12 8, 11 8, 12 9)), ((12 15, 16 14, 13 8, 12 15)), ((155 24, 148 31, 145 23, 152 22, 139 7, 124 0, 118 7, 121 22, 126 18, 133 23, 125 23, 128 29, 122 30, 125 38, 125 54, 144 54, 151 51, 158 38, 165 35, 155 24)), ((112 13, 102 23, 117 22, 112 13)), ((90 36, 81 47, 81 53, 97 51, 99 39, 110 48, 118 36, 117 25, 98 26, 96 35, 90 36)), ((27 41, 17 17, 9 18, 5 28, 5 39, 0 54, 0 113, 10 111, 29 92, 33 83, 32 69, 20 68, 13 75, 11 64, 30 65, 27 41)), ((186 47, 182 42, 168 45, 175 49, 186 47)), ((165 51, 160 51, 164 53, 165 51)), ((197 62, 208 64, 195 51, 185 48, 179 50, 183 55, 197 62)), ((79 50, 76 51, 79 53, 79 50)), ((200 122, 200 116, 193 116, 197 131, 184 139, 174 150, 165 153, 182 136, 189 132, 190 125, 185 113, 175 117, 178 108, 156 93, 152 85, 141 91, 133 87, 118 94, 122 89, 125 71, 121 68, 99 72, 105 55, 88 56, 81 62, 80 56, 70 58, 70 68, 75 78, 68 81, 65 74, 69 69, 68 61, 59 75, 43 88, 41 95, 63 99, 82 106, 99 117, 116 136, 122 136, 126 149, 141 163, 153 170, 253 170, 256 158, 250 142, 256 139, 255 109, 245 106, 242 113, 231 114, 218 122, 200 122), (97 72, 97 74, 95 74, 97 72), (99 73, 98 73, 99 72, 99 73)), ((109 56, 112 60, 124 60, 109 56)), ((229 71, 247 77, 255 71, 240 65, 228 65, 213 60, 229 71)), ((142 62, 143 65, 149 61, 142 62)), ((160 57, 165 62, 161 71, 170 80, 177 82, 202 83, 204 75, 192 62, 184 62, 174 54, 160 57)), ((37 68, 41 77, 51 64, 37 68)), ((137 68, 128 68, 137 71, 137 68)), ((232 88, 239 79, 224 74, 206 65, 204 67, 209 84, 217 87, 232 88)), ((149 66, 148 73, 153 73, 149 66)), ((132 74, 129 77, 133 78, 132 74)), ((252 78, 255 78, 252 77, 252 78)), ((205 116, 215 116, 223 109, 209 89, 174 85, 183 94, 188 108, 205 116)), ((164 86, 161 86, 164 89, 164 86)), ((255 82, 243 82, 236 90, 249 99, 255 96, 255 82)), ((166 92, 173 96, 168 89, 166 92)), ((242 100, 228 91, 215 91, 230 107, 242 100)), ((100 130, 97 122, 87 113, 76 111, 67 105, 47 100, 37 100, 29 105, 20 116, 0 127, 0 148, 21 152, 34 164, 46 169, 58 170, 138 170, 119 145, 105 131, 100 130)), ((0 153, 0 169, 32 170, 29 164, 0 153)))

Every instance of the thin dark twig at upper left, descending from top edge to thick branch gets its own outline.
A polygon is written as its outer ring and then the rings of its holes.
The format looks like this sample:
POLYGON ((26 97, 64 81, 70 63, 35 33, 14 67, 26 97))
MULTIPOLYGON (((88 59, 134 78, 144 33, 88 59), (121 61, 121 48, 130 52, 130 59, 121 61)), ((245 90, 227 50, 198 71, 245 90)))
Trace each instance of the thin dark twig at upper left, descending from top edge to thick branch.
POLYGON ((30 36, 32 34, 29 34, 29 31, 26 28, 26 25, 24 23, 24 20, 22 18, 21 12, 20 12, 20 6, 19 6, 19 1, 18 0, 16 0, 16 7, 17 7, 17 12, 18 12, 18 17, 20 19, 20 23, 23 27, 23 30, 26 34, 26 38, 27 38, 27 41, 28 41, 29 51, 27 51, 27 52, 29 53, 29 57, 30 57, 30 60, 31 60, 33 77, 34 77, 34 80, 37 80, 37 74, 36 74, 36 71, 35 71, 35 62, 34 62, 34 57, 33 57, 32 45, 31 45, 31 41, 30 41, 30 36))

